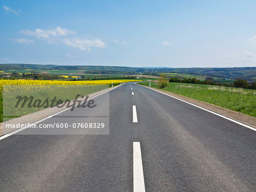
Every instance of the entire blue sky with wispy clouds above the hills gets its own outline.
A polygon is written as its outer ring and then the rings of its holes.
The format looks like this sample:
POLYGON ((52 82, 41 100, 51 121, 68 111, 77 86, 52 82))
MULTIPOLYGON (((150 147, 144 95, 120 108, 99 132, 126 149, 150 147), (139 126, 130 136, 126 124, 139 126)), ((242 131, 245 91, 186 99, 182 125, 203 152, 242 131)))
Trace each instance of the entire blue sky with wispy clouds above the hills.
POLYGON ((0 1, 0 63, 256 66, 256 1, 0 1))

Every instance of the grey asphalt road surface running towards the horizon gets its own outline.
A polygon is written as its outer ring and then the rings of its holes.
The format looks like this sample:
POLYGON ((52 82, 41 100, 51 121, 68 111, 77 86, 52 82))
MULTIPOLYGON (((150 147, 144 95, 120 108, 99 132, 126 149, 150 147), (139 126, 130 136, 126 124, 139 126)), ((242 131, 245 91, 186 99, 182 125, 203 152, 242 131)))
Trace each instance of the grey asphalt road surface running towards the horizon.
MULTIPOLYGON (((0 190, 133 191, 138 141, 146 191, 255 191, 255 131, 139 85, 125 84, 95 99, 109 99, 109 111, 103 105, 90 114, 106 124, 109 115, 109 135, 0 140, 0 190)), ((57 116, 41 124, 88 118, 83 108, 57 116)))

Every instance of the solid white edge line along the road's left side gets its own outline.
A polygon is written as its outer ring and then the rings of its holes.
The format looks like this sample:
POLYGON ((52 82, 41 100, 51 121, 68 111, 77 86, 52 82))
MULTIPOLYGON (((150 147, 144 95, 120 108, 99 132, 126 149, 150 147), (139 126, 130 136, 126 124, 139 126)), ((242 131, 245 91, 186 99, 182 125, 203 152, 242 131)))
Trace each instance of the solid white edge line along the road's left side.
MULTIPOLYGON (((122 84, 122 85, 123 85, 123 84, 122 84)), ((119 86, 118 86, 118 87, 119 87, 119 86)), ((105 91, 104 93, 101 93, 101 94, 99 94, 99 95, 96 95, 96 96, 94 96, 94 97, 88 99, 87 101, 90 101, 91 99, 96 98, 96 97, 98 97, 98 96, 100 96, 100 95, 102 95, 102 94, 108 93, 109 91, 112 91, 112 90, 114 90, 114 89, 116 89, 116 88, 118 88, 118 87, 114 87, 113 89, 110 89, 110 90, 108 90, 108 91, 105 91)), ((75 105, 75 107, 76 107, 77 105, 79 105, 79 104, 80 104, 80 103, 77 103, 77 104, 75 105)), ((71 106, 71 107, 73 107, 73 106, 71 106)), ((5 139, 6 137, 9 137, 9 136, 11 136, 11 135, 14 135, 15 133, 18 133, 18 132, 20 132, 20 131, 22 131, 22 130, 25 130, 26 128, 31 127, 33 124, 38 124, 38 123, 40 123, 40 122, 43 122, 43 121, 46 120, 46 119, 52 118, 53 116, 58 115, 58 114, 60 114, 61 112, 64 112, 64 111, 69 110, 69 108, 71 108, 71 107, 65 108, 64 110, 61 110, 61 111, 59 111, 59 112, 56 112, 55 114, 49 115, 49 116, 47 116, 46 118, 40 119, 40 120, 38 120, 38 121, 36 121, 36 122, 34 122, 34 123, 30 123, 28 126, 25 126, 25 127, 23 127, 23 128, 19 128, 18 130, 15 130, 15 131, 12 131, 12 132, 10 132, 10 133, 7 133, 6 135, 1 136, 1 137, 0 137, 0 140, 5 139)))

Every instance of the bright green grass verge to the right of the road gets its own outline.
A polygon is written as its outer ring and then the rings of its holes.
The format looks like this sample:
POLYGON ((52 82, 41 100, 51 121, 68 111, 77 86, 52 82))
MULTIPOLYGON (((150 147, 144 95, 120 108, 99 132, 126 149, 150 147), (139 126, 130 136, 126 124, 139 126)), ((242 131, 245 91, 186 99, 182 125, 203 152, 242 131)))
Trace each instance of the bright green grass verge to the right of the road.
MULTIPOLYGON (((149 82, 139 82, 139 85, 148 86, 149 82)), ((151 82, 151 87, 159 89, 157 82, 151 82)), ((256 117, 256 90, 176 82, 170 82, 161 90, 256 117)))

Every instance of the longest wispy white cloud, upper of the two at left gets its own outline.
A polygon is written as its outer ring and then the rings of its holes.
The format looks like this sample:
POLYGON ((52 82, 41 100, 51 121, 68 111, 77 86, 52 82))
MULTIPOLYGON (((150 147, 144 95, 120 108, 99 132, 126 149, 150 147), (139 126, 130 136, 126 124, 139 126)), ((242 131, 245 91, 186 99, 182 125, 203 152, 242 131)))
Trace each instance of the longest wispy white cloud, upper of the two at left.
POLYGON ((52 30, 42 30, 37 28, 35 31, 22 30, 20 31, 24 35, 35 36, 38 39, 48 39, 49 37, 67 36, 69 34, 76 35, 75 31, 67 30, 65 28, 56 27, 52 30))

